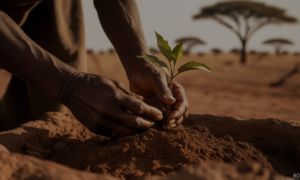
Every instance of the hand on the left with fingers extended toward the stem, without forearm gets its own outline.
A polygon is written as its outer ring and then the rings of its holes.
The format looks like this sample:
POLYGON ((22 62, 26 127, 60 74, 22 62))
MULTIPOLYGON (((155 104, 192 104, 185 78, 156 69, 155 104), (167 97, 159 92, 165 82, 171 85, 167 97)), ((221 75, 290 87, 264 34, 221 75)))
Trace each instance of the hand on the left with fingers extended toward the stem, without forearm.
POLYGON ((99 135, 135 134, 163 118, 162 112, 144 103, 141 96, 104 76, 80 73, 64 94, 62 103, 91 132, 99 135))

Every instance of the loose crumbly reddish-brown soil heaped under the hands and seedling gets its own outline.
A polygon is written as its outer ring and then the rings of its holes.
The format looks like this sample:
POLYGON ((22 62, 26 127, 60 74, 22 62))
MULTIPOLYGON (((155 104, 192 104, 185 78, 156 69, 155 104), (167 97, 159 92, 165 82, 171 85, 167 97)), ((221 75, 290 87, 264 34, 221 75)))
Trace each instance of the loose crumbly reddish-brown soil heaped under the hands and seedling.
MULTIPOLYGON (((53 148, 52 148, 53 149, 53 148)), ((47 159, 67 166, 138 180, 152 175, 174 175, 197 162, 257 162, 273 170, 251 144, 230 136, 215 138, 204 126, 149 129, 140 135, 108 140, 102 136, 82 143, 58 144, 47 159), (61 149, 59 149, 61 148, 61 149)))

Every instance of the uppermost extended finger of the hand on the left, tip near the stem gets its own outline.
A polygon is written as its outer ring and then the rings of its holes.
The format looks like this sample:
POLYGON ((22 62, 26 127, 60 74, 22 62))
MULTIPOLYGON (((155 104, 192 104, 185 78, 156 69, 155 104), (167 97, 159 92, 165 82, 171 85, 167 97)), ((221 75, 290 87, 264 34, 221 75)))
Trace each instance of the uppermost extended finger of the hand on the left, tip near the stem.
POLYGON ((163 114, 155 107, 149 106, 143 101, 128 95, 123 95, 120 98, 120 107, 129 110, 135 115, 139 115, 151 120, 160 121, 163 119, 163 114))

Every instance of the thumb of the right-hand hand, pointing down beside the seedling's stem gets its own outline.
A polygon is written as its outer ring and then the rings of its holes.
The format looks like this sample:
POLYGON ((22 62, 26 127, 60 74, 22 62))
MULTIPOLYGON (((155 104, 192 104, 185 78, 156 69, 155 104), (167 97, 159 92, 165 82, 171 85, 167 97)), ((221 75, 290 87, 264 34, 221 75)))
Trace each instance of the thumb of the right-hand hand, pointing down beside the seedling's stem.
POLYGON ((166 80, 162 80, 161 78, 156 78, 152 81, 152 89, 155 92, 155 95, 158 100, 165 104, 174 104, 176 99, 173 97, 170 88, 167 85, 166 80))

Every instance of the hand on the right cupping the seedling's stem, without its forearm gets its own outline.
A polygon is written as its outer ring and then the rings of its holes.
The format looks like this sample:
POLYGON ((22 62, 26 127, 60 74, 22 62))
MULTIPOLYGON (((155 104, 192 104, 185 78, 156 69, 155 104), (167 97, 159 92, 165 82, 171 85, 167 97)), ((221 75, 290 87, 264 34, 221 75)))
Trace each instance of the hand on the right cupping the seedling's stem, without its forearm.
POLYGON ((172 104, 171 113, 166 123, 171 127, 178 126, 188 116, 188 101, 183 87, 173 81, 171 92, 168 87, 170 80, 158 67, 149 62, 141 64, 132 68, 131 72, 128 73, 130 89, 145 97, 144 99, 156 96, 161 102, 172 104))

